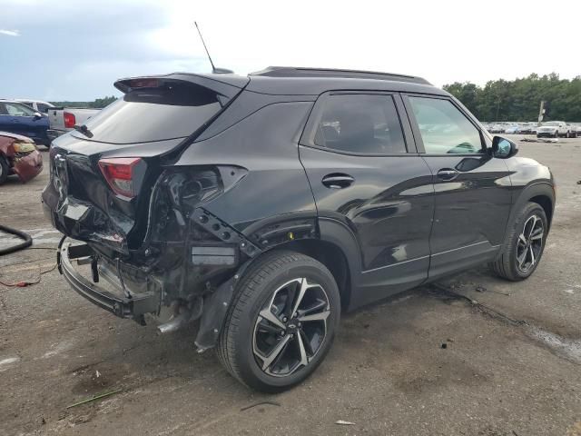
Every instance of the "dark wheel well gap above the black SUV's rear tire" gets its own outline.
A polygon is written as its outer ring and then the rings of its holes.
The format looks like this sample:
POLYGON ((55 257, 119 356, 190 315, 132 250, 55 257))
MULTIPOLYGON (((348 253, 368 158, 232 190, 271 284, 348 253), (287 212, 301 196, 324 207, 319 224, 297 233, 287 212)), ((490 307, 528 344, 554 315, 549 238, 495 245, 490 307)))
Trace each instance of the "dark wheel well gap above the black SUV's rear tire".
POLYGON ((349 263, 347 263, 345 254, 337 245, 320 240, 304 239, 282 243, 274 247, 274 249, 292 250, 293 252, 306 254, 325 265, 330 273, 333 274, 333 278, 339 287, 341 308, 346 310, 349 307, 351 296, 349 263))

